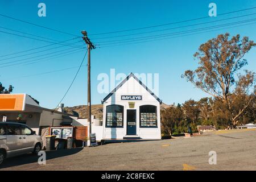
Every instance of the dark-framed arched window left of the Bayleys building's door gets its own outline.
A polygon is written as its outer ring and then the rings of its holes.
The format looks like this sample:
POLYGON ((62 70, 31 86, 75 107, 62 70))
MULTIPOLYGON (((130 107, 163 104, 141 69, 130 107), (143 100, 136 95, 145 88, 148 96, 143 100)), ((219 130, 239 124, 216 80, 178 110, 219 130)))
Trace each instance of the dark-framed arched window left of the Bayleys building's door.
POLYGON ((123 106, 106 106, 106 127, 123 127, 123 106))

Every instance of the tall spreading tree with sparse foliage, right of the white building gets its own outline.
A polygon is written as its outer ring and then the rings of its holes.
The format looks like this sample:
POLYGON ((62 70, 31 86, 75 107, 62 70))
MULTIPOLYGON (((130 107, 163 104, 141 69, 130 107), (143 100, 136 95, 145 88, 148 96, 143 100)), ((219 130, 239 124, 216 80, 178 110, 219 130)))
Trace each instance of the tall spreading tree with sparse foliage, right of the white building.
POLYGON ((181 77, 187 78, 197 88, 219 99, 229 111, 230 125, 236 126, 238 118, 250 105, 255 94, 251 88, 255 84, 255 73, 240 69, 247 64, 243 59, 247 52, 256 44, 247 36, 240 38, 236 35, 230 38, 228 33, 201 44, 194 55, 199 67, 195 71, 187 70, 181 77), (250 94, 250 97, 246 97, 250 94), (244 97, 238 112, 233 110, 238 97, 244 97))

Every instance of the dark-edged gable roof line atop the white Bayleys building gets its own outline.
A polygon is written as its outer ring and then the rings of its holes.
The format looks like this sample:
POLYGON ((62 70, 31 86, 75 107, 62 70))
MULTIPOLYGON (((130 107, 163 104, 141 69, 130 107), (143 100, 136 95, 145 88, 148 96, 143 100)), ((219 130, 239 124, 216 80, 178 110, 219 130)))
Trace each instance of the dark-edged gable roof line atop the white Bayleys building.
POLYGON ((139 82, 139 84, 141 84, 143 86, 144 89, 147 90, 147 92, 149 92, 151 94, 151 96, 153 96, 158 102, 160 102, 160 104, 162 104, 162 100, 160 100, 160 98, 158 98, 158 96, 156 96, 150 89, 147 88, 146 85, 143 84, 143 82, 141 80, 139 80, 133 73, 130 73, 125 80, 123 80, 119 85, 117 85, 117 87, 115 87, 112 92, 110 92, 108 94, 108 96, 106 96, 102 101, 101 104, 103 104, 106 100, 108 100, 109 97, 111 97, 121 86, 123 86, 123 84, 125 84, 126 81, 128 81, 131 77, 133 77, 136 81, 139 82))

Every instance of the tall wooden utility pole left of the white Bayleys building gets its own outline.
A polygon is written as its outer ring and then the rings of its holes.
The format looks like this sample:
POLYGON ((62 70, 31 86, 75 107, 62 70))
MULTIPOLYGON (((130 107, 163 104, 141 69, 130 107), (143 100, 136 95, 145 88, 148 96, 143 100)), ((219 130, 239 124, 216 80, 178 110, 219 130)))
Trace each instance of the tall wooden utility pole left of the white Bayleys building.
POLYGON ((87 44, 87 54, 88 54, 88 64, 87 64, 87 69, 88 69, 88 103, 87 103, 87 113, 88 113, 88 122, 89 122, 89 143, 88 146, 91 146, 90 143, 90 134, 92 134, 92 109, 91 109, 91 102, 90 102, 90 50, 91 49, 95 49, 95 47, 93 46, 92 42, 90 42, 90 39, 87 36, 87 32, 86 31, 81 31, 82 35, 84 35, 82 37, 82 39, 84 39, 85 43, 87 44))

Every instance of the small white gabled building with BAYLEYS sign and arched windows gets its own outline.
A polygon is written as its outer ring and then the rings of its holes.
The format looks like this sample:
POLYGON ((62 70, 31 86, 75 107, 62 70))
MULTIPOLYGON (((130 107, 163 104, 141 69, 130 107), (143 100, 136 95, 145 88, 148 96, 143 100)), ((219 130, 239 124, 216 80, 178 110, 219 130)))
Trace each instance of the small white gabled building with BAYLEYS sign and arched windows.
POLYGON ((162 101, 133 73, 102 100, 103 140, 161 139, 162 101))

